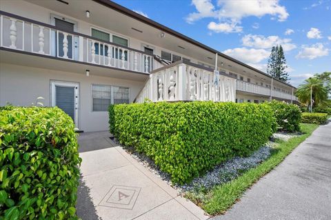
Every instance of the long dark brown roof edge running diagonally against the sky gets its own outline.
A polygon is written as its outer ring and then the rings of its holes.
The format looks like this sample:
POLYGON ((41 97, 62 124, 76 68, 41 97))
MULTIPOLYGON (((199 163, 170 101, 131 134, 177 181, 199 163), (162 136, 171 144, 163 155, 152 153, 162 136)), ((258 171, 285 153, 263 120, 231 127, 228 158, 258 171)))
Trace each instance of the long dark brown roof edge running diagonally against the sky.
POLYGON ((106 6, 108 8, 112 8, 113 10, 116 10, 117 12, 121 12, 122 14, 126 14, 128 15, 129 17, 132 17, 133 19, 136 19, 138 21, 141 21, 143 23, 146 23, 148 24, 149 26, 152 26, 154 28, 157 28, 157 29, 160 29, 162 30, 163 32, 167 32, 168 34, 172 34, 174 37, 178 37, 179 39, 182 39, 184 41, 188 41, 189 43, 192 43, 194 44, 195 46, 198 46, 200 48, 203 48, 204 50, 208 50, 209 52, 212 52, 214 54, 218 54, 219 56, 225 58, 225 59, 229 59, 230 61, 233 61, 234 63, 238 63, 239 65, 241 66, 245 66, 246 68, 249 68, 250 70, 253 70, 255 72, 259 72, 260 74, 263 74, 265 75, 265 77, 270 77, 273 78, 274 80, 277 80, 281 83, 284 83, 285 85, 287 86, 290 86, 292 88, 295 88, 297 89, 295 86, 292 86, 290 83, 285 83, 279 79, 276 79, 272 76, 270 76, 269 74, 261 71, 261 70, 258 70, 257 68, 254 68, 252 66, 249 66, 248 64, 246 63, 243 63, 237 59, 234 59, 226 54, 223 54, 222 52, 219 52, 218 50, 214 50, 213 48, 210 48, 209 46, 206 46, 205 44, 203 43, 200 43, 199 41, 196 41, 190 37, 187 37, 185 36, 184 34, 181 34, 180 32, 177 32, 176 30, 172 30, 171 28, 168 28, 166 26, 163 26, 161 23, 158 23, 157 21, 153 21, 152 19, 149 19, 147 17, 144 17, 143 15, 141 14, 138 14, 137 12, 134 12, 124 6, 121 6, 119 5, 118 3, 114 3, 113 1, 110 1, 110 0, 92 0, 92 1, 95 1, 97 3, 100 3, 101 5, 103 6, 106 6))

